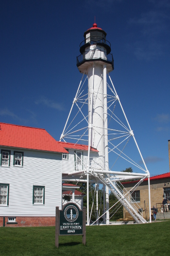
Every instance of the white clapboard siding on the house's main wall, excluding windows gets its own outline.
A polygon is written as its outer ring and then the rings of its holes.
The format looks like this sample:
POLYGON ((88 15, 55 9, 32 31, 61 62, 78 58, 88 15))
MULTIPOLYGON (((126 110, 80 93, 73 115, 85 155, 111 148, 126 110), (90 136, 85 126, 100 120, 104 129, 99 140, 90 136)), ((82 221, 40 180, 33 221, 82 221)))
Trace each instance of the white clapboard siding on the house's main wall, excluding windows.
POLYGON ((0 183, 10 186, 9 206, 0 205, 0 216, 55 216, 55 207, 62 206, 62 154, 10 150, 10 167, 0 166, 0 183), (23 167, 13 166, 14 151, 24 152, 23 167), (45 186, 44 205, 33 204, 33 185, 45 186))

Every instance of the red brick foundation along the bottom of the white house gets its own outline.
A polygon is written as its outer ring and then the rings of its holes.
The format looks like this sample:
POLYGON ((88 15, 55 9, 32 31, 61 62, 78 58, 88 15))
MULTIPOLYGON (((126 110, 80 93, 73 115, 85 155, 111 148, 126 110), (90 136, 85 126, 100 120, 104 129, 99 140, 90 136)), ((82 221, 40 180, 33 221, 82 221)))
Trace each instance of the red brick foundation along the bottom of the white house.
MULTIPOLYGON (((55 226, 55 217, 16 217, 16 223, 7 224, 8 217, 5 217, 5 227, 40 227, 55 226)), ((4 226, 4 217, 0 217, 0 227, 4 226)))

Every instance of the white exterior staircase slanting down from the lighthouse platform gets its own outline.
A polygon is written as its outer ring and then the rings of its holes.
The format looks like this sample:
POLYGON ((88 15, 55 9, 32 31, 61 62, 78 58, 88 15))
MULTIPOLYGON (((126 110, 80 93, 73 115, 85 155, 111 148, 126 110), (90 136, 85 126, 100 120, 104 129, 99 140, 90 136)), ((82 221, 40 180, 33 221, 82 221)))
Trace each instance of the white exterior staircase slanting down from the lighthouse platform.
POLYGON ((113 179, 109 174, 100 174, 95 171, 90 172, 94 177, 100 179, 104 185, 106 185, 115 197, 120 201, 124 208, 130 213, 130 215, 135 219, 136 223, 147 223, 139 213, 138 209, 134 204, 129 202, 129 196, 126 195, 119 184, 113 179))

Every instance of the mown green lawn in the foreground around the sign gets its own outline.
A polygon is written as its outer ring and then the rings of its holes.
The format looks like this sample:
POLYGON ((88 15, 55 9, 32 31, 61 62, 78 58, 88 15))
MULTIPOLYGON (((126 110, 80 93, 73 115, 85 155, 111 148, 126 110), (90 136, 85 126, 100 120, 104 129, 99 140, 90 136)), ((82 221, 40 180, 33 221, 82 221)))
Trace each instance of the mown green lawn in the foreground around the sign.
POLYGON ((0 228, 0 256, 155 256, 167 255, 170 221, 140 225, 86 227, 82 236, 59 236, 55 227, 0 228))

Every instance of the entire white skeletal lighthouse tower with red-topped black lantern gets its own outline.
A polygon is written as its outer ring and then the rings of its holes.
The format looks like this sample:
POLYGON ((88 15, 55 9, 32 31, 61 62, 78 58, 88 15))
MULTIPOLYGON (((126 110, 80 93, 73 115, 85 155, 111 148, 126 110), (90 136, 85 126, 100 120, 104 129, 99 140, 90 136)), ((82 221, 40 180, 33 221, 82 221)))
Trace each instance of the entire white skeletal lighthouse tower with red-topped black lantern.
MULTIPOLYGON (((138 213, 138 208, 140 207, 131 203, 133 200, 131 194, 146 177, 148 177, 150 193, 150 175, 136 143, 134 133, 125 116, 113 82, 109 76, 109 73, 114 69, 113 56, 110 54, 111 45, 109 41, 106 40, 105 31, 97 27, 96 23, 84 33, 84 37, 84 41, 80 44, 81 55, 77 57, 77 67, 80 73, 83 74, 83 77, 73 100, 60 140, 63 139, 66 141, 68 139, 70 142, 70 139, 74 139, 75 144, 80 144, 80 142, 83 144, 87 143, 88 156, 87 161, 85 162, 84 160, 83 162, 84 168, 76 169, 72 172, 70 171, 68 176, 74 174, 74 179, 72 178, 72 180, 79 180, 80 182, 86 180, 87 182, 87 225, 90 220, 88 202, 90 179, 93 179, 93 182, 95 180, 97 187, 98 183, 102 183, 103 185, 104 199, 102 214, 99 214, 98 211, 98 194, 96 194, 97 223, 100 217, 103 217, 105 221, 106 209, 106 224, 109 224, 109 190, 117 197, 118 202, 134 217, 137 223, 139 223, 139 221, 145 223, 147 221, 138 213), (85 80, 84 75, 86 75, 85 80), (107 82, 107 75, 111 85, 107 82), (119 102, 118 105, 120 107, 118 114, 121 112, 124 119, 120 119, 115 113, 117 102, 119 102), (77 107, 77 112, 73 111, 74 106, 77 107), (71 117, 72 113, 73 117, 71 117), (81 118, 78 118, 79 116, 81 116, 81 118), (139 166, 127 155, 129 150, 127 150, 127 153, 125 151, 130 138, 133 138, 143 167, 139 166), (98 150, 97 158, 91 157, 91 148, 98 150), (115 157, 111 156, 109 158, 111 154, 114 154, 115 157), (109 166, 110 159, 112 167, 109 166), (140 173, 120 172, 124 165, 117 165, 119 159, 127 160, 128 164, 131 163, 134 165, 135 168, 140 170, 140 173), (120 171, 117 171, 117 169, 113 171, 113 168, 119 168, 120 171), (123 191, 120 182, 134 178, 139 179, 134 190, 132 190, 132 192, 123 191)), ((79 157, 75 157, 75 161, 76 158, 78 159, 79 157)), ((79 159, 79 162, 80 160, 82 159, 79 159)), ((95 187, 96 191, 97 187, 95 187)), ((149 208, 151 208, 150 194, 149 208)))

